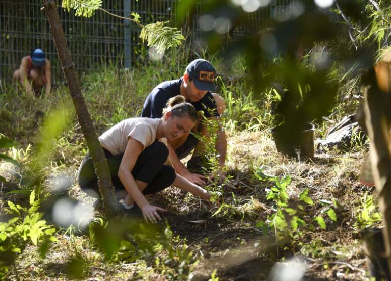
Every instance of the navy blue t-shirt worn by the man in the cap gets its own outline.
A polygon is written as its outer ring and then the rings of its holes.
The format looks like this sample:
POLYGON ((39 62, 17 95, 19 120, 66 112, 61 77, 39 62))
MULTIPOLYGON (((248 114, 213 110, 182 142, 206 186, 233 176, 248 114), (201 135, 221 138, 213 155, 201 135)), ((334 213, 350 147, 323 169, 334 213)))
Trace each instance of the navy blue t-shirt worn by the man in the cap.
MULTIPOLYGON (((181 94, 181 83, 183 78, 178 80, 165 81, 157 85, 152 92, 147 96, 144 102, 141 117, 161 118, 163 115, 163 108, 165 108, 167 101, 170 98, 181 94)), ((199 101, 190 102, 195 110, 204 111, 205 117, 219 116, 216 107, 216 101, 212 94, 208 92, 199 101)))

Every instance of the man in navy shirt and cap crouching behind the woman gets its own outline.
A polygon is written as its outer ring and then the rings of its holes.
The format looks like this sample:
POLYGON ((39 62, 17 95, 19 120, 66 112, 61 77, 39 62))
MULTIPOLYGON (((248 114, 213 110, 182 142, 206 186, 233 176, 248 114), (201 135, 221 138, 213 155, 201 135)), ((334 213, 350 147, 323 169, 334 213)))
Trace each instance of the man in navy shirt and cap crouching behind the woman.
MULTIPOLYGON (((197 59, 189 63, 183 76, 178 80, 165 81, 157 85, 145 100, 142 117, 160 118, 167 101, 174 96, 182 95, 195 109, 202 110, 207 118, 218 118, 220 115, 216 107, 216 101, 211 94, 215 91, 216 70, 207 60, 197 59)), ((217 95, 214 93, 214 95, 217 95)), ((221 98, 219 101, 222 100, 221 98)), ((224 107, 224 105, 221 105, 224 107)), ((194 132, 206 134, 206 129, 199 124, 193 128, 194 132)), ((185 158, 194 149, 193 155, 187 167, 199 166, 202 154, 202 143, 192 134, 187 134, 180 140, 169 142, 169 158, 177 173, 184 176, 190 182, 205 185, 207 178, 198 173, 192 173, 186 169, 180 159, 185 158)), ((223 167, 226 160, 227 140, 224 131, 218 132, 216 150, 219 153, 220 170, 218 175, 224 178, 223 167)))

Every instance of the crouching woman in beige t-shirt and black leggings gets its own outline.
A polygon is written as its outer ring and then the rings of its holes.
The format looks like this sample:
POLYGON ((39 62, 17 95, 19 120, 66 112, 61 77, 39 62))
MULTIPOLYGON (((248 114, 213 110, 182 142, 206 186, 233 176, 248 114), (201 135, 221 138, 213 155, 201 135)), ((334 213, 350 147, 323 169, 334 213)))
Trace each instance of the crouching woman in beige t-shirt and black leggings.
MULTIPOLYGON (((150 205, 144 195, 156 193, 170 185, 210 199, 211 195, 205 189, 165 165, 169 151, 163 142, 158 141, 162 138, 180 138, 192 129, 198 119, 194 107, 185 103, 184 97, 176 96, 169 99, 162 118, 126 119, 99 137, 117 197, 123 199, 121 204, 126 213, 141 209, 146 221, 157 222, 161 219, 157 212, 165 210, 150 205)), ((99 197, 97 176, 89 154, 81 162, 78 182, 88 195, 99 197)))

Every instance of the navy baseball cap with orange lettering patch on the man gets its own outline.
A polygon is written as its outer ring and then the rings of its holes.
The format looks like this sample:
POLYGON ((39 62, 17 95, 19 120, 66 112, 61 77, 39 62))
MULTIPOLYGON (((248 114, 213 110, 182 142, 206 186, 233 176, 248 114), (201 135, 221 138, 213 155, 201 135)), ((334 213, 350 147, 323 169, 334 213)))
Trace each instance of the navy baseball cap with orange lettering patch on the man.
POLYGON ((204 59, 193 60, 186 67, 188 73, 194 81, 195 87, 202 91, 215 91, 216 69, 213 65, 204 59))

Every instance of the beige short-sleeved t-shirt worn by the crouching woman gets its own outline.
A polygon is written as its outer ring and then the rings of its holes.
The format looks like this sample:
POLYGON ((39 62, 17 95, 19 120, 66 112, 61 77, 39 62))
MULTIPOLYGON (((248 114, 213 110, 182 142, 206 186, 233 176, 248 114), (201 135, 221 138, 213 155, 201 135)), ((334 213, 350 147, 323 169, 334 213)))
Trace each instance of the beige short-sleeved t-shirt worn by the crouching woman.
POLYGON ((159 122, 158 118, 125 119, 104 132, 99 137, 99 141, 113 155, 119 155, 125 151, 129 137, 138 140, 146 148, 156 140, 159 122))

